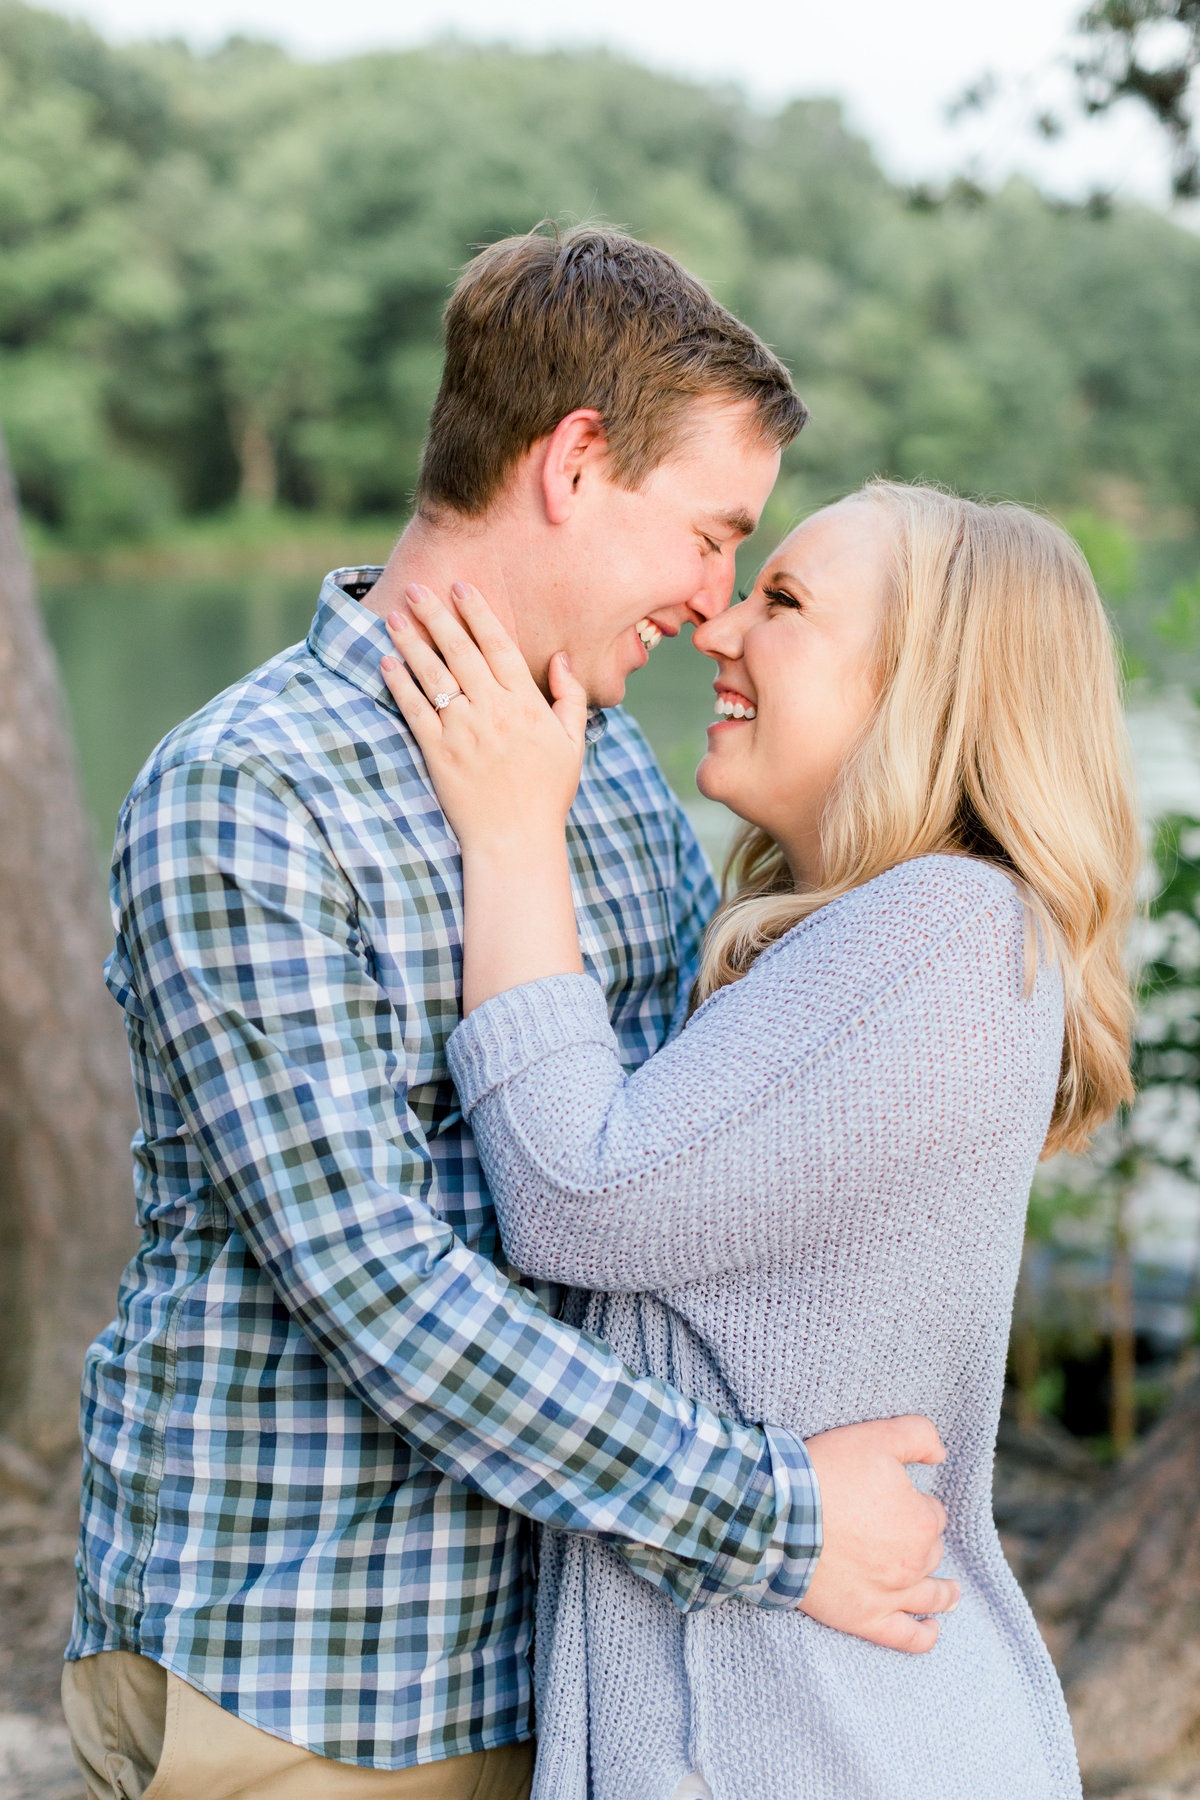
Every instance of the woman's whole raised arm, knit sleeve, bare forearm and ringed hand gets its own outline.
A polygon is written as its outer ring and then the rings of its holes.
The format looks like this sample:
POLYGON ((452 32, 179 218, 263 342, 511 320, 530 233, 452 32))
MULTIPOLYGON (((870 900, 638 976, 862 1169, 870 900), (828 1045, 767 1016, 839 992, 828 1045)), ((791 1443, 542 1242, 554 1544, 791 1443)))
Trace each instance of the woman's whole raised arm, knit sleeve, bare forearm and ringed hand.
POLYGON ((419 686, 385 679, 462 846, 470 1017, 450 1066, 518 1267, 639 1291, 793 1253, 797 1208, 840 1161, 905 1179, 921 1121, 986 1100, 979 1015, 1004 968, 1020 995, 1022 914, 1004 877, 952 857, 822 909, 626 1076, 570 911, 583 689, 558 664, 551 709, 477 594, 457 594, 461 623, 408 592, 435 648, 389 619, 419 686), (991 986, 970 994, 981 970, 991 986))

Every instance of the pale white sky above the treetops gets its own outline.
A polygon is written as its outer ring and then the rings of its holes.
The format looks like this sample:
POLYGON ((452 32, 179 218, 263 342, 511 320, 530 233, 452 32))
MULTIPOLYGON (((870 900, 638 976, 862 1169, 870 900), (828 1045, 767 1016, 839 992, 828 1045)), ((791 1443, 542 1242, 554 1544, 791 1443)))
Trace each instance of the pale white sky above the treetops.
MULTIPOLYGON (((47 0, 41 0, 45 5, 47 0)), ((1166 200, 1162 140, 1126 104, 1079 121, 1056 144, 1029 128, 1063 110, 1070 25, 1083 0, 50 0, 115 40, 230 32, 299 56, 345 56, 453 32, 470 40, 606 45, 702 79, 734 81, 763 104, 837 95, 900 180, 1024 171, 1078 198, 1105 189, 1166 200), (984 72, 1002 99, 952 126, 946 104, 984 72)))

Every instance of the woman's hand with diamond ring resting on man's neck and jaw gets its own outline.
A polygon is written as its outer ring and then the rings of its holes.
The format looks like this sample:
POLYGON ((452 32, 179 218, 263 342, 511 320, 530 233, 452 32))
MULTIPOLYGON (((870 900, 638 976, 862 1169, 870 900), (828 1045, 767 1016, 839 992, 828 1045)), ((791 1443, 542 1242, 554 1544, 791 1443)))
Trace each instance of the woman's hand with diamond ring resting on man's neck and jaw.
POLYGON ((462 581, 452 592, 457 617, 428 589, 405 589, 412 616, 387 619, 405 666, 385 657, 383 680, 464 851, 560 833, 583 767, 587 693, 558 653, 549 706, 482 594, 462 581))

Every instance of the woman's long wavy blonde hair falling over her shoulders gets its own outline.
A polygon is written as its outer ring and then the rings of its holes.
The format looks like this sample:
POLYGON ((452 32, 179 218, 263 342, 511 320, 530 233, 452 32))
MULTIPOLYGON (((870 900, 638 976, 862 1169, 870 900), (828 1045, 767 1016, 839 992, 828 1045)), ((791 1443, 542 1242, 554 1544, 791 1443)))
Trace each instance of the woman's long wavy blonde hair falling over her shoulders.
MULTIPOLYGON (((1141 846, 1105 608, 1074 540, 1024 506, 889 481, 855 499, 891 517, 894 569, 874 709, 822 817, 822 880, 797 893, 779 844, 745 826, 696 1003, 898 862, 986 859, 1016 878, 1061 965, 1063 1062, 1045 1154, 1081 1150, 1133 1094, 1124 938, 1141 846)), ((1036 940, 1031 920, 1029 981, 1036 940)))

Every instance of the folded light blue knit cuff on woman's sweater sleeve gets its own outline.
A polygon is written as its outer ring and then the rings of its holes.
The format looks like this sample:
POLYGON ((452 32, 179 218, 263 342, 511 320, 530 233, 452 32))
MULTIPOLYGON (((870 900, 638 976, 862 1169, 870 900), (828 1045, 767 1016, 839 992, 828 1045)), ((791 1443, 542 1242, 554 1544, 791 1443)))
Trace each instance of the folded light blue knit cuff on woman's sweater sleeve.
POLYGON ((493 1087, 578 1044, 603 1044, 617 1055, 604 990, 592 976, 545 976, 495 994, 446 1044, 462 1111, 470 1116, 493 1087))

